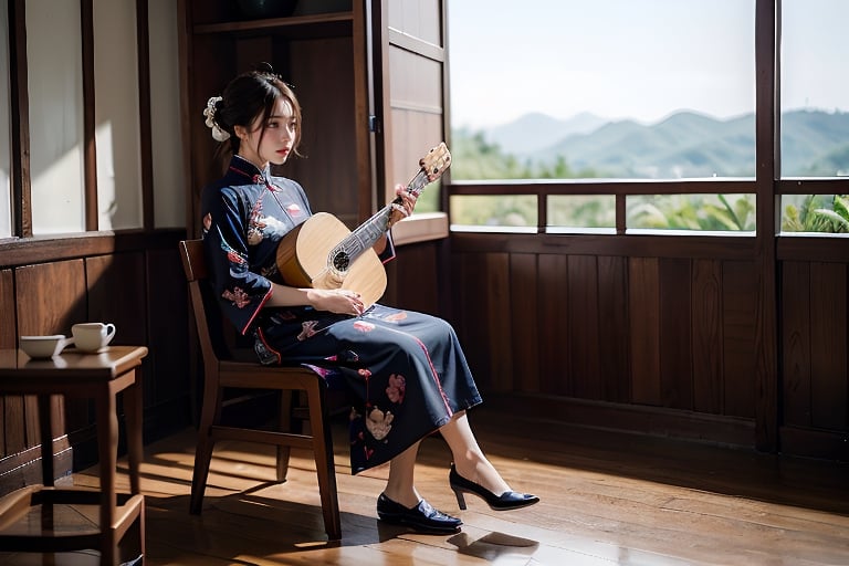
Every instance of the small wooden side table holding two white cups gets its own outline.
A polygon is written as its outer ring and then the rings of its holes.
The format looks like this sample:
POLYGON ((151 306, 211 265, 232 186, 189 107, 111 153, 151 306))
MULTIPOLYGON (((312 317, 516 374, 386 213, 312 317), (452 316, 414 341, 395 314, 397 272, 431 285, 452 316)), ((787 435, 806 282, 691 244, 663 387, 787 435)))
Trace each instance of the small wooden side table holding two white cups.
POLYGON ((101 564, 116 565, 118 544, 137 522, 139 555, 145 552, 144 496, 139 463, 143 457, 143 389, 139 366, 143 346, 109 346, 98 354, 66 349, 51 359, 30 359, 18 349, 0 349, 0 395, 38 396, 43 485, 28 486, 0 502, 0 548, 6 552, 101 552, 101 564), (124 392, 130 494, 115 489, 118 452, 117 395, 124 392), (50 396, 94 399, 99 465, 98 491, 59 489, 53 485, 53 438, 50 396), (63 532, 53 505, 99 504, 96 528, 63 532), (40 525, 27 521, 31 507, 41 505, 40 525), (55 521, 54 521, 55 518, 55 521))

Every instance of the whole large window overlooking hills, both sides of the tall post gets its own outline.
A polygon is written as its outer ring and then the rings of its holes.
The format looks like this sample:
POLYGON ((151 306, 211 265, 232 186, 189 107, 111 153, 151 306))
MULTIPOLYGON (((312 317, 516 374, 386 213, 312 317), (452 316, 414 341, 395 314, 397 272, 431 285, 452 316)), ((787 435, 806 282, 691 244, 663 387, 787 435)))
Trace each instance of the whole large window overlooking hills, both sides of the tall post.
MULTIPOLYGON (((849 46, 838 31, 849 4, 782 4, 782 172, 849 175, 849 46)), ((539 195, 548 232, 754 234, 756 0, 511 6, 449 0, 452 226, 473 224, 468 210, 499 209, 485 199, 503 190, 484 196, 484 180, 533 180, 534 192, 560 179, 539 195), (652 180, 656 195, 637 185, 652 180), (587 195, 596 181, 612 193, 587 195)))

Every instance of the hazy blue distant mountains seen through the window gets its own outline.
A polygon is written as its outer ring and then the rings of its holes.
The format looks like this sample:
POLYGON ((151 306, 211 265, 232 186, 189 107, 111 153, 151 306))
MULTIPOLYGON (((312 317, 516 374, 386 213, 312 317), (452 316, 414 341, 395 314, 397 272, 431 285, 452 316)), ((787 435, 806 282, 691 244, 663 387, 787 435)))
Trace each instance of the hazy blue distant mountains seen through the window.
MULTIPOLYGON (((530 114, 486 129, 483 137, 520 163, 566 161, 598 177, 754 177, 753 114, 721 120, 692 112, 657 124, 605 122, 593 115, 558 120, 530 114)), ((782 118, 786 176, 849 171, 849 113, 794 111, 782 118)))

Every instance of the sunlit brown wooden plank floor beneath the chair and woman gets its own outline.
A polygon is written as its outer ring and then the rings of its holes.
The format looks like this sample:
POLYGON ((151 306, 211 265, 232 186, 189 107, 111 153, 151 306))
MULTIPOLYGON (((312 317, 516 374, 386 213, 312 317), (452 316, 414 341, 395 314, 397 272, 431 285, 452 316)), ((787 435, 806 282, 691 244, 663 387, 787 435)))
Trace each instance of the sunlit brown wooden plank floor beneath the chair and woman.
MULTIPOLYGON (((217 449, 205 511, 192 516, 195 433, 187 430, 146 450, 145 564, 849 564, 847 464, 512 421, 484 407, 470 419, 505 478, 538 494, 539 504, 493 512, 472 499, 460 512, 448 488, 448 449, 429 438, 419 457, 419 491, 461 516, 462 532, 420 535, 381 525, 375 501, 386 470, 352 476, 346 430, 338 422, 340 542, 325 539, 312 461, 296 453, 290 480, 269 483, 273 454, 259 446, 217 449)), ((69 482, 96 485, 94 473, 69 482)), ((96 564, 96 557, 0 553, 0 564, 77 566, 96 564)))

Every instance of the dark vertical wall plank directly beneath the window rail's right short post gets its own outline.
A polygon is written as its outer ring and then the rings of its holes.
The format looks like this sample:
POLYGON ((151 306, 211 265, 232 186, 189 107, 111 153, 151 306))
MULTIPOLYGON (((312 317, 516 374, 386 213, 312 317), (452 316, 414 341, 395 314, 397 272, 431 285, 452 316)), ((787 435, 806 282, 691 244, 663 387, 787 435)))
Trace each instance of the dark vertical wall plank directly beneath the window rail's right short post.
POLYGON ((601 397, 607 401, 628 402, 628 263, 625 258, 598 258, 598 343, 601 397))

